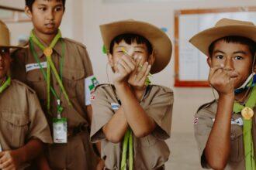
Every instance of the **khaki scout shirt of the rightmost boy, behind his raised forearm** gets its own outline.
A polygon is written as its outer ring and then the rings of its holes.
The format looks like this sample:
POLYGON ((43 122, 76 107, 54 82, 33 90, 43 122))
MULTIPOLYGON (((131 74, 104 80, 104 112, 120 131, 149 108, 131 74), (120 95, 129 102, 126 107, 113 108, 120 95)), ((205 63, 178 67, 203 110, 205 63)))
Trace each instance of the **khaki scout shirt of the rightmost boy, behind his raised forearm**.
MULTIPOLYGON (((202 167, 206 168, 207 162, 203 158, 203 151, 206 148, 209 134, 212 131, 213 123, 217 111, 217 102, 213 101, 209 104, 204 104, 195 114, 194 128, 195 139, 199 147, 199 156, 201 158, 202 167)), ((254 113, 256 108, 254 108, 254 113)), ((240 114, 232 114, 230 133, 230 159, 227 163, 226 170, 245 170, 244 164, 244 141, 243 141, 243 121, 240 114)), ((254 139, 254 155, 256 155, 256 117, 253 117, 253 139, 254 139)))

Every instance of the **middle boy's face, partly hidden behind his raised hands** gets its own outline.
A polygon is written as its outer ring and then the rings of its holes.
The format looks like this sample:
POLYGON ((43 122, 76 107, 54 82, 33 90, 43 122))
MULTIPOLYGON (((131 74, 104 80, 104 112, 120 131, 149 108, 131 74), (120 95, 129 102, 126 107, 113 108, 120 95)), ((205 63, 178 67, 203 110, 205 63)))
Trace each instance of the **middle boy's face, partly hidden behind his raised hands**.
POLYGON ((127 44, 125 41, 119 42, 113 46, 112 55, 109 54, 109 63, 114 70, 116 70, 116 63, 117 61, 126 53, 123 53, 123 49, 129 54, 129 56, 135 58, 141 57, 140 64, 143 65, 147 59, 149 58, 150 54, 147 51, 146 44, 137 44, 137 42, 132 42, 130 45, 127 44))

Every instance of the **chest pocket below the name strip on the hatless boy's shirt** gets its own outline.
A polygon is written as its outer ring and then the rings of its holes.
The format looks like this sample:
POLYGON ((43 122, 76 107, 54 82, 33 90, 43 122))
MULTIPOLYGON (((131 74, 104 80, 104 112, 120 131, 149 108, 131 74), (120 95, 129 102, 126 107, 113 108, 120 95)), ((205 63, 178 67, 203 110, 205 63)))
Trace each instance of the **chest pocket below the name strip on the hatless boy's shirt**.
POLYGON ((36 94, 40 100, 44 101, 47 99, 47 83, 44 80, 41 70, 30 70, 26 73, 26 80, 28 81, 29 87, 36 91, 36 94))

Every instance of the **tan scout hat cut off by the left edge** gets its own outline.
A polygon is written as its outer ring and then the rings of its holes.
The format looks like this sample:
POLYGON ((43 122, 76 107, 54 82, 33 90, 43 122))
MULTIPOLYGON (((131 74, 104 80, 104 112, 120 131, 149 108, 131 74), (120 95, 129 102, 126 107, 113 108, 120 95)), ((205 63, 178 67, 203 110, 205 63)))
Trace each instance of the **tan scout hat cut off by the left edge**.
POLYGON ((23 48, 22 46, 10 46, 10 32, 5 22, 0 20, 0 47, 23 48))

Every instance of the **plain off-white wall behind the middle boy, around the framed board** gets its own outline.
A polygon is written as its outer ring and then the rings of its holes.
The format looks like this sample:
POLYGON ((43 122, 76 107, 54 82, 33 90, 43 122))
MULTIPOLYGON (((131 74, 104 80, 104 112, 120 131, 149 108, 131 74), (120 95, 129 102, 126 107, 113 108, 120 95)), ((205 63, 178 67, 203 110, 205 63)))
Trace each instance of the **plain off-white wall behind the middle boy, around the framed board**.
MULTIPOLYGON (((195 0, 160 2, 104 3, 102 0, 83 1, 84 42, 88 47, 95 74, 101 82, 107 82, 106 56, 102 54, 102 39, 99 25, 119 19, 137 19, 158 27, 167 27, 168 36, 174 42, 174 12, 188 8, 223 8, 256 5, 254 0, 195 0)), ((215 23, 213 23, 214 25, 215 23)), ((174 88, 174 55, 171 63, 161 73, 154 75, 153 82, 171 87, 175 91, 172 132, 193 131, 193 115, 199 105, 213 100, 209 88, 174 88)))

